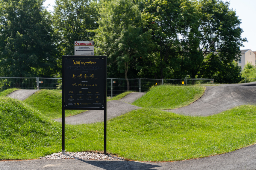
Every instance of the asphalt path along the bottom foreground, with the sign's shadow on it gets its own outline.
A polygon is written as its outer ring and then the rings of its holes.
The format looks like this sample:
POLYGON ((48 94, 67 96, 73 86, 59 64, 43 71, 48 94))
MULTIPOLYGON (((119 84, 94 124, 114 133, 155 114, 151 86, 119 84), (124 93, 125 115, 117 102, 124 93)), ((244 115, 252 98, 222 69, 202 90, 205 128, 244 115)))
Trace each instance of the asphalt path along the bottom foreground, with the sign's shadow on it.
POLYGON ((124 160, 22 160, 0 161, 1 170, 253 170, 256 169, 256 145, 227 154, 175 162, 139 162, 124 160))

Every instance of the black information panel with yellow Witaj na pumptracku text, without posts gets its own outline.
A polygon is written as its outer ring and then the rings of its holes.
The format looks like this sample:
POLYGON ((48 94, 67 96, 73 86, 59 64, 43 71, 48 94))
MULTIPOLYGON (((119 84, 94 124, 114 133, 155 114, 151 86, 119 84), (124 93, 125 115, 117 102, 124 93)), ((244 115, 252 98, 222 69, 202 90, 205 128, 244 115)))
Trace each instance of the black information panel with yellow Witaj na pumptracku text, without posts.
POLYGON ((65 58, 65 107, 104 107, 103 58, 65 58))

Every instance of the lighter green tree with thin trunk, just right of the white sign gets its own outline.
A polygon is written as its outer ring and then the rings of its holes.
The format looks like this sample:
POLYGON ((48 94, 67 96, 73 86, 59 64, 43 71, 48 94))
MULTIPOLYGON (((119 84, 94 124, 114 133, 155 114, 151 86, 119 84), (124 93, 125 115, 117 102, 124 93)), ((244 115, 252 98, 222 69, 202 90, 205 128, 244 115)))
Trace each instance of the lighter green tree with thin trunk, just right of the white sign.
POLYGON ((107 55, 108 77, 125 77, 128 90, 128 75, 137 76, 137 63, 148 49, 148 34, 143 32, 141 22, 140 10, 133 1, 102 1, 96 51, 107 55))

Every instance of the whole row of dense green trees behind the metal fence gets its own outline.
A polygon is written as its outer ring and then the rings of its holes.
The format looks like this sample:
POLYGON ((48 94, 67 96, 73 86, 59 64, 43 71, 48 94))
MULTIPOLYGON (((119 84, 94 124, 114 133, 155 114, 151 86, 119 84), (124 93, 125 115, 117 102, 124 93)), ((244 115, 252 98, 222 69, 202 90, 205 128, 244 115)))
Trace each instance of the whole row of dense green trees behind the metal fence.
POLYGON ((228 2, 56 0, 53 13, 42 4, 0 0, 1 76, 61 76, 61 55, 74 55, 74 41, 94 40, 109 78, 241 80, 246 39, 228 2))

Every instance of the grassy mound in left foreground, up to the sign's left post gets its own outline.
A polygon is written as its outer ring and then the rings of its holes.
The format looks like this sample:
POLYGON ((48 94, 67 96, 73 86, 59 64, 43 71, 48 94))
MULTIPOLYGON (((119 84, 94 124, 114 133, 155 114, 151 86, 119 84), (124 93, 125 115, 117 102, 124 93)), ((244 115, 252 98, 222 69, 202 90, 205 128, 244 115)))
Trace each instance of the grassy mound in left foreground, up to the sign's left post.
POLYGON ((0 98, 0 160, 38 158, 60 143, 60 124, 18 100, 0 98))

